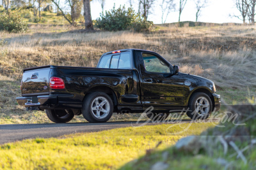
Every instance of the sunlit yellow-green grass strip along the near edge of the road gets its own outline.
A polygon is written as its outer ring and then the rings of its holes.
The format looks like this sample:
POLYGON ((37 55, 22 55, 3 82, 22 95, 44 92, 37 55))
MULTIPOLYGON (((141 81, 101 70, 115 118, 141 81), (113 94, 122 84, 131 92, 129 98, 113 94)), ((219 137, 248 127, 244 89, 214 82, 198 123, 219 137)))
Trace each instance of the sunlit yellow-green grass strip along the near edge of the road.
MULTIPOLYGON (((168 135, 169 126, 127 127, 8 143, 0 146, 0 169, 116 169, 145 155, 147 150, 163 150, 184 136, 198 135, 214 125, 192 124, 180 136, 168 135)), ((177 124, 169 132, 182 131, 182 127, 177 124)))

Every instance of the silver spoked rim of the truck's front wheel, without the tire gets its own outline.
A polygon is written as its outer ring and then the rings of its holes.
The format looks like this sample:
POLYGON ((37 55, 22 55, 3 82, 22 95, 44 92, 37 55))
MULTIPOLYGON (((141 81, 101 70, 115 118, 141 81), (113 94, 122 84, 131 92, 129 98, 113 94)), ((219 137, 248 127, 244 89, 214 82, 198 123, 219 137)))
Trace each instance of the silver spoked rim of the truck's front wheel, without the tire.
POLYGON ((198 97, 198 99, 196 99, 195 108, 195 112, 198 115, 207 115, 210 111, 210 104, 208 99, 205 97, 198 97))

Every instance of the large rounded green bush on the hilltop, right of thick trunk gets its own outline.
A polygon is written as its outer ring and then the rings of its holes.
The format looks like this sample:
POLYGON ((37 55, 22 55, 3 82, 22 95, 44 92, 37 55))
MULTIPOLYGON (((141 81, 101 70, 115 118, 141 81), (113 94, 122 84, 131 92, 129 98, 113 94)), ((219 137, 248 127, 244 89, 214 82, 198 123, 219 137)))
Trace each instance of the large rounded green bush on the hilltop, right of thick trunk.
POLYGON ((100 13, 95 26, 106 31, 122 31, 132 29, 134 31, 152 31, 154 29, 153 22, 142 20, 138 13, 132 8, 125 9, 125 6, 111 11, 106 11, 106 15, 100 13))

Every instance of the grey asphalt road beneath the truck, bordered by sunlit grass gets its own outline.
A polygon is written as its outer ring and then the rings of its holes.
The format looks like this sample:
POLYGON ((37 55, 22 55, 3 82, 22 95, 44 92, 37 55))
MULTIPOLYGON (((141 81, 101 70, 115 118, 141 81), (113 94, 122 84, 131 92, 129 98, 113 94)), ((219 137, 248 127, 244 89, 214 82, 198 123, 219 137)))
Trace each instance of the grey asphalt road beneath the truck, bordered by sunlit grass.
MULTIPOLYGON (((217 120, 205 120, 205 122, 216 122, 217 120)), ((180 123, 189 123, 191 120, 182 120, 180 123)), ((92 123, 68 123, 68 124, 14 124, 0 125, 0 144, 20 141, 22 139, 51 138, 74 134, 79 132, 99 132, 120 127, 131 127, 144 124, 136 122, 106 122, 102 124, 92 123)), ((149 122, 147 125, 175 124, 177 122, 149 122)))

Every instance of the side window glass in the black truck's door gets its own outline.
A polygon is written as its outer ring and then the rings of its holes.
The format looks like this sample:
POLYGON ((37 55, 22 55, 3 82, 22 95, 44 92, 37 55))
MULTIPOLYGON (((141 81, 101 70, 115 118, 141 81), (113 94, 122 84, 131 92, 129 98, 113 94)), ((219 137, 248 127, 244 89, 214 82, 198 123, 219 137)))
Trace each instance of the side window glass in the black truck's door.
POLYGON ((170 73, 170 67, 150 53, 142 53, 145 69, 154 73, 170 73))

